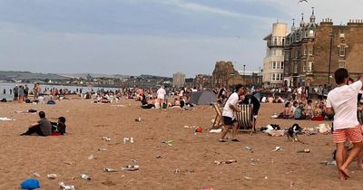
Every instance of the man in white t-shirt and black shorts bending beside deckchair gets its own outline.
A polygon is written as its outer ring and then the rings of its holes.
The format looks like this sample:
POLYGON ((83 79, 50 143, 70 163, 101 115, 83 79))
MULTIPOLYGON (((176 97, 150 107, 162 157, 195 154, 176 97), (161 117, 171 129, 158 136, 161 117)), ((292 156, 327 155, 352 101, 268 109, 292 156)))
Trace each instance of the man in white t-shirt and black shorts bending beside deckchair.
POLYGON ((231 94, 230 98, 226 101, 226 104, 223 107, 221 115, 223 117, 224 128, 221 133, 220 142, 226 142, 225 137, 231 128, 232 128, 232 141, 239 142, 239 140, 237 139, 238 125, 235 112, 240 111, 240 109, 237 109, 237 104, 240 100, 240 95, 243 95, 244 93, 244 88, 241 84, 238 84, 235 90, 236 92, 233 92, 231 94))

